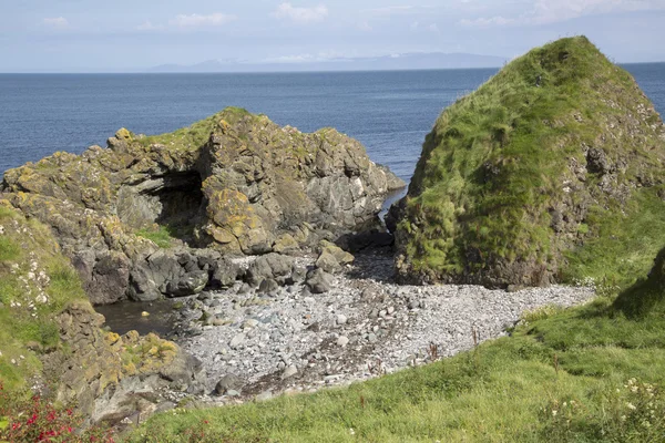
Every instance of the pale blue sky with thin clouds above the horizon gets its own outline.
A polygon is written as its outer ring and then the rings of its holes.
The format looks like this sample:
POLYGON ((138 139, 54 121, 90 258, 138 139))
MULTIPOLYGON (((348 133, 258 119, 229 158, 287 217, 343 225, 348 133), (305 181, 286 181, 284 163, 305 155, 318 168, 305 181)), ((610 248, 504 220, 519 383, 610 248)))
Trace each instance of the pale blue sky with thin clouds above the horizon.
POLYGON ((665 61, 665 0, 0 0, 0 72, 136 72, 409 52, 513 58, 585 34, 665 61))

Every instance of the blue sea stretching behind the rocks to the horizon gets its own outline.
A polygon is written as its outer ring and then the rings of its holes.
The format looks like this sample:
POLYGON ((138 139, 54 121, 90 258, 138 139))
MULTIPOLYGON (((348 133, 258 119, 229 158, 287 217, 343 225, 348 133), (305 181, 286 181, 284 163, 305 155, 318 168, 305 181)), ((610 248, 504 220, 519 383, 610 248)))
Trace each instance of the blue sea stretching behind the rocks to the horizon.
MULTIPOLYGON (((665 63, 625 68, 665 115, 665 63)), ((0 174, 105 146, 123 126, 160 134, 233 105, 305 132, 336 127, 408 182, 440 112, 495 72, 0 74, 0 174)))

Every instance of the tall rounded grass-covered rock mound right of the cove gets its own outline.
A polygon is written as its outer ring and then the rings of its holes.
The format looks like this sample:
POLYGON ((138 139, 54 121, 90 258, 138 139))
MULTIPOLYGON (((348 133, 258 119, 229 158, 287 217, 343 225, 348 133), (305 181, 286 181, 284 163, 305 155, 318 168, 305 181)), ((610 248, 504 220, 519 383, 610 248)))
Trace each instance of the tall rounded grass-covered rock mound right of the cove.
POLYGON ((458 100, 392 209, 403 280, 627 281, 665 245, 665 130, 586 38, 536 48, 458 100))

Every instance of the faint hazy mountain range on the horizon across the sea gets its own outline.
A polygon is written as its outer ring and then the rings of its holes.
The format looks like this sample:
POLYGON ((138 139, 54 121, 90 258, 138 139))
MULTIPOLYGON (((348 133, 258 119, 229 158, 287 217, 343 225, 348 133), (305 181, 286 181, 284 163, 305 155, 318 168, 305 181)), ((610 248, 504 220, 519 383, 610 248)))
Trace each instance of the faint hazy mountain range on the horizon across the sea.
POLYGON ((208 60, 191 65, 162 64, 150 69, 149 72, 307 72, 497 68, 508 61, 505 58, 493 55, 429 52, 301 62, 256 63, 242 60, 208 60))

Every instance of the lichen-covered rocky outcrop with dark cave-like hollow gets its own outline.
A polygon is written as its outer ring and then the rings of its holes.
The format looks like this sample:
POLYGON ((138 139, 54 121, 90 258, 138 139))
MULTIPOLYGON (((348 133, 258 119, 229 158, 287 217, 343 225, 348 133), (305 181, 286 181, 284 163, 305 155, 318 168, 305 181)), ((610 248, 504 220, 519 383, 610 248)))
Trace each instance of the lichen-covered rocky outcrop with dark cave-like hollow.
POLYGON ((4 198, 52 227, 99 303, 233 282, 223 255, 288 253, 371 226, 403 186, 335 130, 303 134, 238 109, 158 136, 120 130, 108 144, 2 183, 4 198), (164 233, 175 248, 158 249, 164 233))

